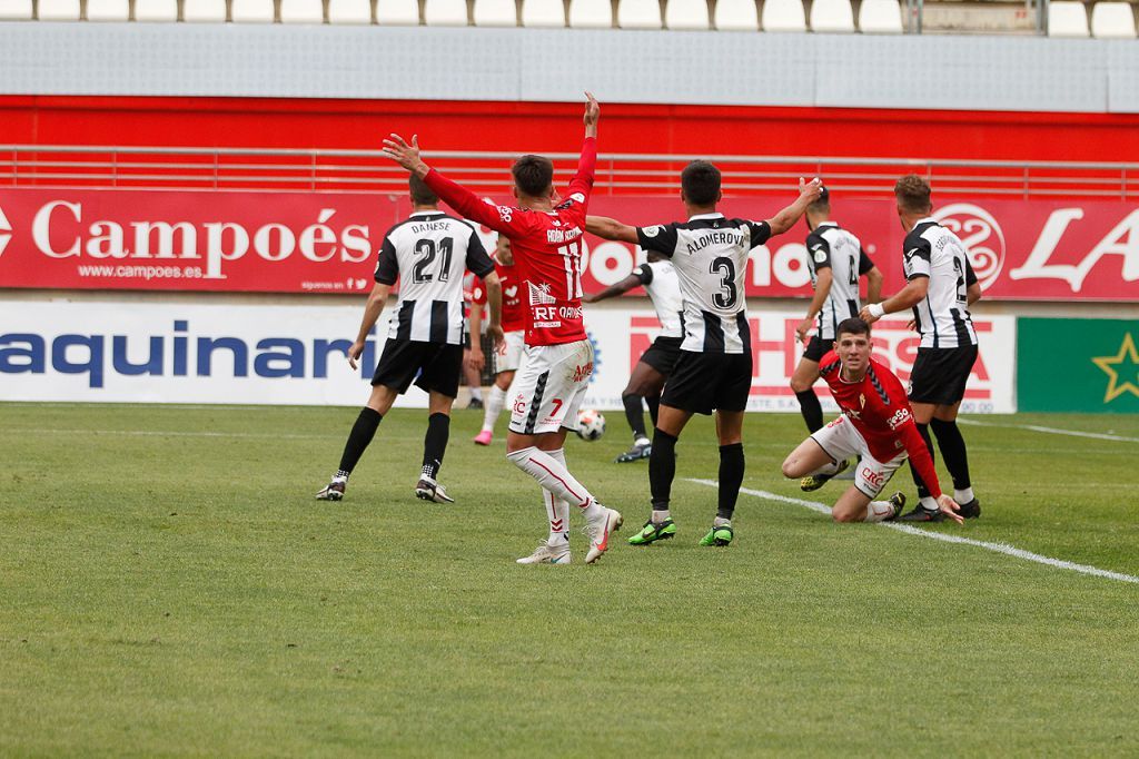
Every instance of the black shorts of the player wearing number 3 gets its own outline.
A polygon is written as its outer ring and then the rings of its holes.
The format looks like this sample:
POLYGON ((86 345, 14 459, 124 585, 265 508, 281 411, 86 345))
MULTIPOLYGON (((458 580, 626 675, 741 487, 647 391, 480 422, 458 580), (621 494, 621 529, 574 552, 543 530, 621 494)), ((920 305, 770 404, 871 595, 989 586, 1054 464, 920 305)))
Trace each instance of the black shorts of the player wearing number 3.
POLYGON ((751 393, 751 353, 680 351, 661 405, 694 414, 743 411, 751 393))

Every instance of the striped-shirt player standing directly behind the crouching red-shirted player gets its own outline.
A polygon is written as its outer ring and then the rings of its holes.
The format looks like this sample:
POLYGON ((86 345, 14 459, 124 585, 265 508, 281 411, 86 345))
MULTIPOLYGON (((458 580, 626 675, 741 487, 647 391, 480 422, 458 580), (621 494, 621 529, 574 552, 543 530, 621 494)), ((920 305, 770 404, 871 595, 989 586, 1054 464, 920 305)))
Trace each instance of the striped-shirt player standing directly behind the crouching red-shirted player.
POLYGON ((835 328, 843 319, 858 316, 858 279, 867 279, 867 295, 871 302, 882 292, 882 272, 862 250, 858 237, 830 220, 830 193, 826 187, 806 209, 806 266, 811 271, 814 296, 806 309, 806 317, 795 327, 800 342, 805 344, 803 357, 790 377, 790 389, 798 399, 806 429, 814 432, 822 427, 822 405, 814 394, 819 378, 819 359, 835 344, 835 328), (814 335, 806 334, 814 327, 814 335))

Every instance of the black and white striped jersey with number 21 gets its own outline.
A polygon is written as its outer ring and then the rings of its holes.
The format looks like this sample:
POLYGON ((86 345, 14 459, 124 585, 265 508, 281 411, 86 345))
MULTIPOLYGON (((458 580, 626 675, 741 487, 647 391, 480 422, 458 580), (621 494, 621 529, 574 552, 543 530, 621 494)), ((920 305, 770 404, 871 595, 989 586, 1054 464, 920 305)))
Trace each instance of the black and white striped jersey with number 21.
POLYGON ((417 211, 379 247, 376 281, 400 281, 388 337, 462 344, 462 275, 494 271, 474 227, 441 211, 417 211))

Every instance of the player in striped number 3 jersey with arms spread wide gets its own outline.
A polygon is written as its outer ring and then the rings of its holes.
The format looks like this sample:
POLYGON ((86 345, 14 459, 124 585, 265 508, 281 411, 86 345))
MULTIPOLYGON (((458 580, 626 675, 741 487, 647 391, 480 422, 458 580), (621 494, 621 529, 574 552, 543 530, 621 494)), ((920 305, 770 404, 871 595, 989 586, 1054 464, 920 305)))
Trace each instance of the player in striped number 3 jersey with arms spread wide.
POLYGON ((647 545, 671 538, 677 525, 669 511, 677 473, 675 446, 693 414, 716 413, 720 438, 720 493, 712 529, 702 546, 727 546, 735 537, 731 516, 744 481, 744 410, 752 389, 752 335, 747 325, 744 274, 752 248, 790 229, 819 196, 820 182, 800 180, 798 198, 769 221, 726 219, 716 212, 723 197, 720 170, 694 161, 680 174, 680 197, 688 221, 629 227, 591 217, 589 231, 636 243, 670 259, 680 278, 685 337, 680 358, 664 386, 649 457, 653 514, 630 538, 647 545))

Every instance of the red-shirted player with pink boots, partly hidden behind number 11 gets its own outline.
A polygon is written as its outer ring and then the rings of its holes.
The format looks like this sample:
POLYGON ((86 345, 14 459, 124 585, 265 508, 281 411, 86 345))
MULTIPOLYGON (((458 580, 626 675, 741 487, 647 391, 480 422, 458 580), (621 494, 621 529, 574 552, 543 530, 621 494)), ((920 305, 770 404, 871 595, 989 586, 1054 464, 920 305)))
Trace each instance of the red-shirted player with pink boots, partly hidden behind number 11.
MULTIPOLYGON (((494 439, 494 423, 498 421, 502 407, 506 406, 507 391, 514 382, 514 375, 522 366, 522 354, 526 349, 526 312, 523 309, 523 296, 525 293, 517 281, 514 255, 510 253, 510 240, 506 235, 499 235, 498 244, 494 248, 494 271, 499 276, 499 284, 502 286, 502 332, 506 333, 506 342, 494 354, 494 385, 486 398, 486 410, 483 414, 483 429, 475 435, 474 442, 480 446, 490 446, 494 439)), ((476 281, 470 308, 470 334, 477 335, 483 325, 483 310, 486 307, 486 288, 482 281, 476 281)), ((486 359, 482 348, 474 342, 470 343, 470 356, 467 358, 468 366, 482 373, 486 359)))

